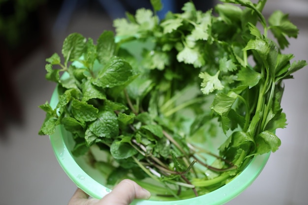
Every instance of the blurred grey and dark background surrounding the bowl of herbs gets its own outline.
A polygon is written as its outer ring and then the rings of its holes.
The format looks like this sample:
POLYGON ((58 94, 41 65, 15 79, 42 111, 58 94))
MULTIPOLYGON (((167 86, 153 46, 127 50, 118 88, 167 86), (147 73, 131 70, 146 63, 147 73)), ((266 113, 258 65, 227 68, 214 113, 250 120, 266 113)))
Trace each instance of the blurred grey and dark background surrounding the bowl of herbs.
MULTIPOLYGON (((186 0, 165 0, 179 11, 186 0), (176 2, 176 3, 175 3, 176 2)), ((216 0, 193 0, 199 10, 216 0)), ((0 0, 0 205, 66 205, 76 186, 62 171, 47 136, 37 132, 45 118, 38 106, 55 84, 45 80, 45 59, 61 53, 64 38, 80 32, 94 41, 125 11, 150 7, 149 0, 0 0)), ((300 29, 285 53, 308 60, 308 1, 268 0, 264 10, 289 13, 300 29)), ((227 205, 308 204, 308 67, 285 81, 282 108, 288 125, 256 181, 227 205)))

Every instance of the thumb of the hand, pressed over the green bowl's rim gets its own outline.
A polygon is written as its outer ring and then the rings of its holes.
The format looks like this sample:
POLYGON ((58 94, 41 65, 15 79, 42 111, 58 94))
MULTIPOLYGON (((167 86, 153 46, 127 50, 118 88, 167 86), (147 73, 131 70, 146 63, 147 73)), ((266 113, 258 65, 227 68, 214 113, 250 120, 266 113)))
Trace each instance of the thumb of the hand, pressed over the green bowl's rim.
POLYGON ((151 193, 130 179, 122 180, 98 205, 129 205, 134 199, 149 199, 151 193))

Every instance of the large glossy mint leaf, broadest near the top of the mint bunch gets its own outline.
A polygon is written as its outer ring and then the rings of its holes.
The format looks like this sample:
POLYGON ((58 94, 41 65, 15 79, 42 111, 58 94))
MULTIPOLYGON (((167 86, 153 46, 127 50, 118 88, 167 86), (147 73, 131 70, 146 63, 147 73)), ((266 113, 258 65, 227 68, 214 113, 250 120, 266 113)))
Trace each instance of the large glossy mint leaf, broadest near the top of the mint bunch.
POLYGON ((100 88, 113 88, 125 84, 131 76, 130 64, 119 57, 112 57, 92 83, 100 88))

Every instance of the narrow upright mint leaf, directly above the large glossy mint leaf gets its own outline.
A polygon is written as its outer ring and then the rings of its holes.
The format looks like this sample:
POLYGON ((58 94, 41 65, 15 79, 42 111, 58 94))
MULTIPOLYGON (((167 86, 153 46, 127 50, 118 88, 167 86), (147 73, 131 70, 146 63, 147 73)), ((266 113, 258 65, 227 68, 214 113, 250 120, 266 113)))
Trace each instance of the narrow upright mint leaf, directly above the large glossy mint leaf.
POLYGON ((101 64, 105 64, 113 57, 116 49, 114 33, 104 31, 97 39, 96 51, 97 59, 101 64))

